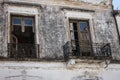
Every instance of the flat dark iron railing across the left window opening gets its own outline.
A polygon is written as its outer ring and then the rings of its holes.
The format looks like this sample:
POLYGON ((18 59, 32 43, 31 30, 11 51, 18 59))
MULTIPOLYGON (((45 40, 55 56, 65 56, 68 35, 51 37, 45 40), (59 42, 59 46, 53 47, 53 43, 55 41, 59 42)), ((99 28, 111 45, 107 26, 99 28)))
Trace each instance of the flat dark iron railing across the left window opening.
POLYGON ((8 56, 9 58, 37 58, 39 45, 8 43, 8 56))

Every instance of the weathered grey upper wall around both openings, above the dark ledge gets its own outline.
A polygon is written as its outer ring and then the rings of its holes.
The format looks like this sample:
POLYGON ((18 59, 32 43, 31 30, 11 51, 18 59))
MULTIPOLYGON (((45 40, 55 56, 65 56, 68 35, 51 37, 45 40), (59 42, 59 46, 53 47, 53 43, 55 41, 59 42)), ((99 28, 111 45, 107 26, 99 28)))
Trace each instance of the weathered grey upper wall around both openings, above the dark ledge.
MULTIPOLYGON (((9 19, 8 7, 17 6, 23 7, 27 10, 29 8, 36 7, 38 10, 38 17, 35 19, 38 21, 36 25, 37 43, 40 45, 40 58, 55 58, 62 59, 63 46, 69 41, 69 18, 81 17, 84 19, 90 19, 90 29, 93 43, 111 43, 112 55, 114 59, 120 59, 120 53, 118 51, 118 38, 115 27, 115 21, 111 14, 112 6, 111 0, 99 0, 99 1, 87 1, 87 0, 5 0, 7 1, 3 6, 1 5, 1 55, 6 56, 8 40, 8 23, 5 19, 9 19), (10 1, 10 2, 8 2, 10 1), (12 1, 12 2, 11 2, 12 1), (13 3, 14 2, 14 3, 13 3), (17 3, 19 3, 17 5, 17 3), (24 3, 23 3, 24 2, 24 3), (102 4, 106 2, 107 4, 102 4), (10 4, 11 3, 11 4, 10 4), (59 3, 59 4, 58 4, 59 3), (89 3, 89 4, 88 4, 89 3), (87 5, 87 6, 86 6, 87 5), (5 11, 5 13, 4 13, 5 11), (70 11, 70 17, 66 17, 65 11, 70 11), (92 11, 92 12, 91 12, 92 11), (75 17, 77 13, 83 13, 75 17), (86 16, 91 17, 86 17, 86 16), (6 17, 6 18, 5 18, 6 17), (3 20, 2 20, 3 19, 3 20), (4 22, 5 21, 5 22, 4 22), (6 23, 6 25, 5 25, 6 23), (3 26, 4 25, 4 26, 3 26), (5 38, 4 38, 5 37, 5 38), (4 44, 3 44, 4 43, 4 44), (3 46, 4 45, 4 46, 3 46)), ((23 10, 24 11, 24 10, 23 10)), ((16 12, 20 12, 16 10, 16 12)), ((27 12, 27 11, 26 11, 27 12)), ((11 13, 10 13, 11 14, 11 13)), ((29 11, 28 13, 29 14, 29 11)), ((24 15, 24 14, 23 14, 24 15)), ((26 13, 25 13, 26 15, 26 13)))

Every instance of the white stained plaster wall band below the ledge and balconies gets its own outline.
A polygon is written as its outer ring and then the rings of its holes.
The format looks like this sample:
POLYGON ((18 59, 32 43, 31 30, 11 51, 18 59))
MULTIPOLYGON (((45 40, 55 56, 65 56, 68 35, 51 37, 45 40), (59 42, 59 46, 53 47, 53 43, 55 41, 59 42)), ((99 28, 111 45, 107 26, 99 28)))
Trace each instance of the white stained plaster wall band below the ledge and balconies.
POLYGON ((120 65, 63 62, 0 62, 0 80, 119 80, 120 65))

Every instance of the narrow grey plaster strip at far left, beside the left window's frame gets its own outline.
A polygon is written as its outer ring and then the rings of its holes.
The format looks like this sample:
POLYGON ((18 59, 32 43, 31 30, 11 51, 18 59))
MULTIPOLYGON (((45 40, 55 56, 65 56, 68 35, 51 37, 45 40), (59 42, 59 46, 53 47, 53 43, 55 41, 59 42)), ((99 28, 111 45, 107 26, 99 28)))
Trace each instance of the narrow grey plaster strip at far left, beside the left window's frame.
POLYGON ((4 15, 4 5, 0 3, 0 56, 7 56, 7 34, 5 26, 6 16, 4 15))

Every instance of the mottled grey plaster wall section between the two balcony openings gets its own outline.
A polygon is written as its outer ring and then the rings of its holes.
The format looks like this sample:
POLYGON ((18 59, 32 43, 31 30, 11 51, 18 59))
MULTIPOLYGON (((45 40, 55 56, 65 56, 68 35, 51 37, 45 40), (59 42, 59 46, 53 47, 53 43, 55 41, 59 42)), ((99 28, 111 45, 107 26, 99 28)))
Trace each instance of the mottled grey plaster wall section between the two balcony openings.
MULTIPOLYGON (((64 15, 57 6, 42 5, 40 19, 45 58, 63 58, 66 33, 64 15)), ((42 56, 42 55, 41 55, 42 56)))

